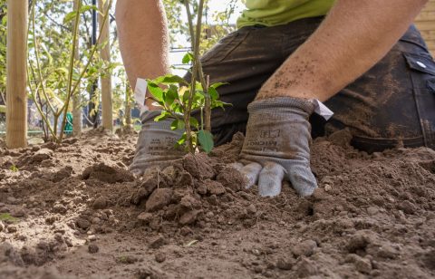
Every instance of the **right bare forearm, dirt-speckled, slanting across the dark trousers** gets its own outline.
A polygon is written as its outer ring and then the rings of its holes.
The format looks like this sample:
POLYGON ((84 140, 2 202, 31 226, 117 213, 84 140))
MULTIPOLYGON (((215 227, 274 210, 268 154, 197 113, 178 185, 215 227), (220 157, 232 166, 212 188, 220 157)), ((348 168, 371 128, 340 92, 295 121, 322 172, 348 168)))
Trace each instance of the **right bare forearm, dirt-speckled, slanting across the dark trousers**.
POLYGON ((257 99, 326 101, 391 50, 427 0, 338 0, 323 24, 264 84, 257 99))

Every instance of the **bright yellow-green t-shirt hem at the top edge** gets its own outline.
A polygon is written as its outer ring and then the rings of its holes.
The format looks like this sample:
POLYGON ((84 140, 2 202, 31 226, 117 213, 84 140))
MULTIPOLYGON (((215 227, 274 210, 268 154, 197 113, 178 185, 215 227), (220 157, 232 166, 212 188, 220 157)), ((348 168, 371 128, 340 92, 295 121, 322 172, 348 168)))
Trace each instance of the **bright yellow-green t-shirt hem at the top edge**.
POLYGON ((328 14, 335 0, 244 0, 247 5, 237 27, 262 24, 275 26, 297 19, 328 14))

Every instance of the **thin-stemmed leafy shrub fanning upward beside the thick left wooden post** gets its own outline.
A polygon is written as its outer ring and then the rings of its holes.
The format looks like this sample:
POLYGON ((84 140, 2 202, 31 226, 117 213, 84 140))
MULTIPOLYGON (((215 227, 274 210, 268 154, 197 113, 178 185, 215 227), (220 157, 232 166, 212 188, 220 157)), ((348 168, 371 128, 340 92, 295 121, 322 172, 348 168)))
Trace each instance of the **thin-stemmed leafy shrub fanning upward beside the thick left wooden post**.
MULTIPOLYGON (((113 0, 107 0, 109 7, 107 11, 99 11, 104 14, 102 24, 108 24, 109 12, 113 0)), ((72 32, 56 35, 56 40, 64 41, 64 46, 70 48, 71 52, 57 53, 57 58, 62 59, 63 63, 56 64, 53 59, 53 54, 49 51, 43 40, 47 40, 47 36, 43 38, 36 34, 38 30, 35 24, 36 2, 33 2, 31 10, 30 23, 32 28, 29 28, 29 49, 33 52, 29 55, 29 91, 31 98, 34 100, 37 110, 43 118, 43 125, 49 130, 51 138, 61 142, 63 139, 63 130, 67 123, 67 114, 70 108, 70 102, 74 94, 80 93, 80 86, 83 78, 95 80, 100 74, 107 71, 107 67, 115 65, 105 65, 101 60, 94 58, 95 53, 100 50, 105 43, 95 44, 89 52, 83 52, 85 63, 75 60, 75 52, 77 50, 79 33, 80 33, 80 18, 82 14, 97 10, 93 5, 82 5, 82 0, 78 1, 77 11, 73 11, 64 16, 63 24, 71 24, 73 22, 72 32), (43 58, 41 57, 43 54, 43 58), (33 58, 33 59, 32 59, 33 58), (106 68, 105 68, 106 67, 106 68), (104 71, 106 70, 106 71, 104 71), (44 110, 45 108, 45 110, 44 110), (50 117, 53 116, 53 125, 50 117), (58 123, 61 128, 58 129, 58 123)), ((103 26, 101 26, 102 28, 103 26)), ((101 36, 101 33, 100 33, 101 36)), ((98 38, 97 42, 100 42, 98 38)))

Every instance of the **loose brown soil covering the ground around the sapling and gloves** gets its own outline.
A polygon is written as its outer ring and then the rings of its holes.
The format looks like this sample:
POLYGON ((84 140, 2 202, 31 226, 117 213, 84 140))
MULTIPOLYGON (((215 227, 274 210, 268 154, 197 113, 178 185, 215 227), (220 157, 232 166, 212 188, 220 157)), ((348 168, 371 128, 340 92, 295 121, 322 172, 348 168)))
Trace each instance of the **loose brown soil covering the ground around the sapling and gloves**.
POLYGON ((243 136, 142 177, 136 135, 0 142, 0 278, 430 278, 435 151, 316 139, 313 197, 275 198, 231 168, 243 136))

